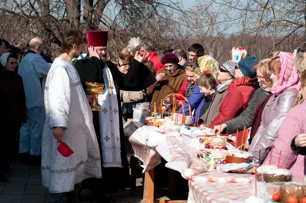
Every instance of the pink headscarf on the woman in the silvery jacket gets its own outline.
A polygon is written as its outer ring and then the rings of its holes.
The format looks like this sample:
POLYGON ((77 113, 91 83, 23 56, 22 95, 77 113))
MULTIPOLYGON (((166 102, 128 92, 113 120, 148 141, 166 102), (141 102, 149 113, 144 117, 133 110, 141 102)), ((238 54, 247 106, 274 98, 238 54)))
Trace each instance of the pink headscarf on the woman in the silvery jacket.
POLYGON ((281 52, 279 54, 281 59, 281 72, 279 72, 279 80, 277 87, 272 87, 272 94, 277 96, 287 89, 294 88, 300 90, 299 78, 297 77, 297 69, 293 66, 294 56, 289 52, 281 52))

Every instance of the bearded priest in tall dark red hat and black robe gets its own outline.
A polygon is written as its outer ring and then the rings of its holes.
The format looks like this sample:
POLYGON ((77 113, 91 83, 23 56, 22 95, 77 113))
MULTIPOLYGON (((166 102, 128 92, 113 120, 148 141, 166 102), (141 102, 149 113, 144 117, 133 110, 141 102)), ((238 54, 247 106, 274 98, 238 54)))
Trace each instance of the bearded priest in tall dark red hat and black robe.
POLYGON ((143 90, 155 83, 156 78, 142 64, 143 56, 138 52, 126 74, 107 61, 108 32, 88 31, 87 38, 89 54, 78 60, 75 68, 85 90, 86 81, 103 83, 105 87, 97 98, 97 104, 102 111, 93 111, 93 123, 102 158, 102 181, 90 180, 90 183, 83 182, 83 186, 89 186, 93 196, 100 196, 101 192, 124 189, 129 177, 119 92, 143 90))

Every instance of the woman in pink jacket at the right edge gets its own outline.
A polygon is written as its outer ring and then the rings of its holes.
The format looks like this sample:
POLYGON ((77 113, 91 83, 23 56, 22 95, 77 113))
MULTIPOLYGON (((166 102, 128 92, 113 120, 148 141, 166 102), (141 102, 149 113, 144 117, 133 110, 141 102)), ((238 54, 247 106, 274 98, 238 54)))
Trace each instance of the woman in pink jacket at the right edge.
MULTIPOLYGON (((302 96, 306 97, 306 71, 300 77, 302 96)), ((274 149, 269 159, 265 159, 263 165, 271 164, 279 168, 288 169, 292 175, 292 181, 304 182, 305 180, 305 151, 306 149, 306 103, 293 107, 288 111, 278 137, 274 142, 274 149), (292 140, 292 141, 291 141, 292 140), (290 143, 291 141, 291 143, 290 143), (281 159, 279 159, 282 151, 281 159)))

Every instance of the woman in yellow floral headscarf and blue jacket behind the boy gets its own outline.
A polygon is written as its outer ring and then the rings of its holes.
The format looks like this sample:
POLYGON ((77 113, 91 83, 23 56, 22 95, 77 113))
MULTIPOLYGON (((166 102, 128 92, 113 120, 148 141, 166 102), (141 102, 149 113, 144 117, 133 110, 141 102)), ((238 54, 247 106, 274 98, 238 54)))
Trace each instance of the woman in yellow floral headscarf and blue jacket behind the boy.
MULTIPOLYGON (((214 77, 217 78, 217 72, 219 70, 219 63, 212 56, 205 55, 205 56, 199 57, 198 64, 199 64, 199 67, 196 67, 194 71, 195 80, 200 78, 200 76, 205 73, 212 73, 214 77)), ((195 109, 194 116, 193 116, 193 122, 194 122, 195 118, 197 117, 196 115, 199 116, 201 107, 205 103, 203 94, 200 92, 200 89, 197 85, 195 86, 194 91, 190 95, 188 101, 191 106, 191 111, 195 109)), ((185 107, 185 115, 189 115, 190 112, 189 112, 187 102, 184 103, 184 107, 185 107)), ((183 114, 183 108, 180 108, 179 113, 183 114)))

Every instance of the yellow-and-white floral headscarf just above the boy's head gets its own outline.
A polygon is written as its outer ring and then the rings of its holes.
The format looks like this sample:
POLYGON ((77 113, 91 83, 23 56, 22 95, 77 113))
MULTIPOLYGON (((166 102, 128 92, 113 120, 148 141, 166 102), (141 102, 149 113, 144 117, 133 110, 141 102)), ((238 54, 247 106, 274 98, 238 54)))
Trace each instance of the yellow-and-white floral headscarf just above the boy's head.
POLYGON ((198 58, 199 67, 194 71, 197 75, 202 75, 205 73, 212 73, 215 78, 217 78, 217 72, 219 70, 219 63, 209 55, 201 56, 198 58))

